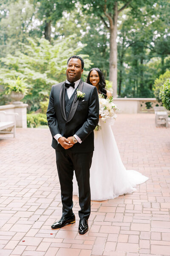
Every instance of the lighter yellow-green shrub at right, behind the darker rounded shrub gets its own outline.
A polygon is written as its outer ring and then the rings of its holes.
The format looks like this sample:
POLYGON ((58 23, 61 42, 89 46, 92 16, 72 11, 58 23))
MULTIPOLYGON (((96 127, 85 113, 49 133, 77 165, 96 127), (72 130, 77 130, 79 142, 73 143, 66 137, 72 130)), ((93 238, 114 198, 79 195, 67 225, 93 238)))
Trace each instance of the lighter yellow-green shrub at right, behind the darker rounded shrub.
POLYGON ((153 85, 153 92, 158 102, 161 102, 161 98, 159 94, 161 90, 161 86, 164 84, 164 82, 168 78, 170 78, 170 70, 167 70, 163 75, 160 75, 159 78, 155 80, 155 83, 153 85))

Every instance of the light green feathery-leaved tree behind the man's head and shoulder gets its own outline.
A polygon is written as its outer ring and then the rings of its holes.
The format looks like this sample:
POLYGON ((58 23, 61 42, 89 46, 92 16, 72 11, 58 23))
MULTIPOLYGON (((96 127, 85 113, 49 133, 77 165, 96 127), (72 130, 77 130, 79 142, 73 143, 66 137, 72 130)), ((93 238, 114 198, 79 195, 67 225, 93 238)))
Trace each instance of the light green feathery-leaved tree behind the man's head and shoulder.
MULTIPOLYGON (((28 38, 26 44, 22 43, 24 53, 16 50, 13 55, 1 58, 3 68, 0 69, 0 83, 6 87, 16 77, 25 79, 28 94, 24 101, 30 105, 30 109, 38 109, 40 102, 49 96, 51 86, 65 80, 68 56, 81 51, 82 47, 69 47, 73 40, 74 35, 71 35, 51 45, 44 38, 28 38)), ((91 61, 86 55, 82 57, 88 69, 91 61)), ((83 76, 87 76, 87 71, 84 71, 83 76)))

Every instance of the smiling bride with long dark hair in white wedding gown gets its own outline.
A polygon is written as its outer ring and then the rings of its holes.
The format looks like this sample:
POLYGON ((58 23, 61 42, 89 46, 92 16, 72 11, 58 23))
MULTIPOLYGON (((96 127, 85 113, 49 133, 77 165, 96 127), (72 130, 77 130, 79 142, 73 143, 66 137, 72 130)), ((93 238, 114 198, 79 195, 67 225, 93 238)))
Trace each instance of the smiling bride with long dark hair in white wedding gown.
MULTIPOLYGON (((111 93, 105 89, 105 78, 99 68, 92 68, 87 83, 96 86, 105 98, 111 93)), ((94 155, 90 169, 91 200, 102 201, 136 191, 136 184, 148 178, 134 170, 126 170, 122 163, 111 125, 99 119, 101 130, 94 131, 94 155)), ((73 195, 78 195, 74 174, 73 195)))

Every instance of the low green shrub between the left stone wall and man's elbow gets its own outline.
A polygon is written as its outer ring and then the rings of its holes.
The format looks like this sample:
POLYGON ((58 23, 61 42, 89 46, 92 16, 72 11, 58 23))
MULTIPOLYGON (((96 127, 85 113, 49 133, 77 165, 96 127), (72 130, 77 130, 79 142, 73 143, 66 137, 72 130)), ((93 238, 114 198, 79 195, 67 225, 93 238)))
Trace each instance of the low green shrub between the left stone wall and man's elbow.
POLYGON ((38 125, 48 125, 46 114, 44 113, 27 114, 27 127, 36 128, 38 125))

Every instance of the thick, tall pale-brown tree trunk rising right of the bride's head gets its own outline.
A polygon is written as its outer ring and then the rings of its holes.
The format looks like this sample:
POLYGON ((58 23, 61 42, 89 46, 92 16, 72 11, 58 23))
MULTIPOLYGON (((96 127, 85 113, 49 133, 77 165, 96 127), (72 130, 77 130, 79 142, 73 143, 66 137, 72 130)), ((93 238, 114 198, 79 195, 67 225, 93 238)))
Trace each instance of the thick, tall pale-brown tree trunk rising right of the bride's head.
POLYGON ((109 58, 109 80, 112 81, 113 97, 117 97, 117 2, 114 6, 113 23, 110 22, 110 58, 109 58))

